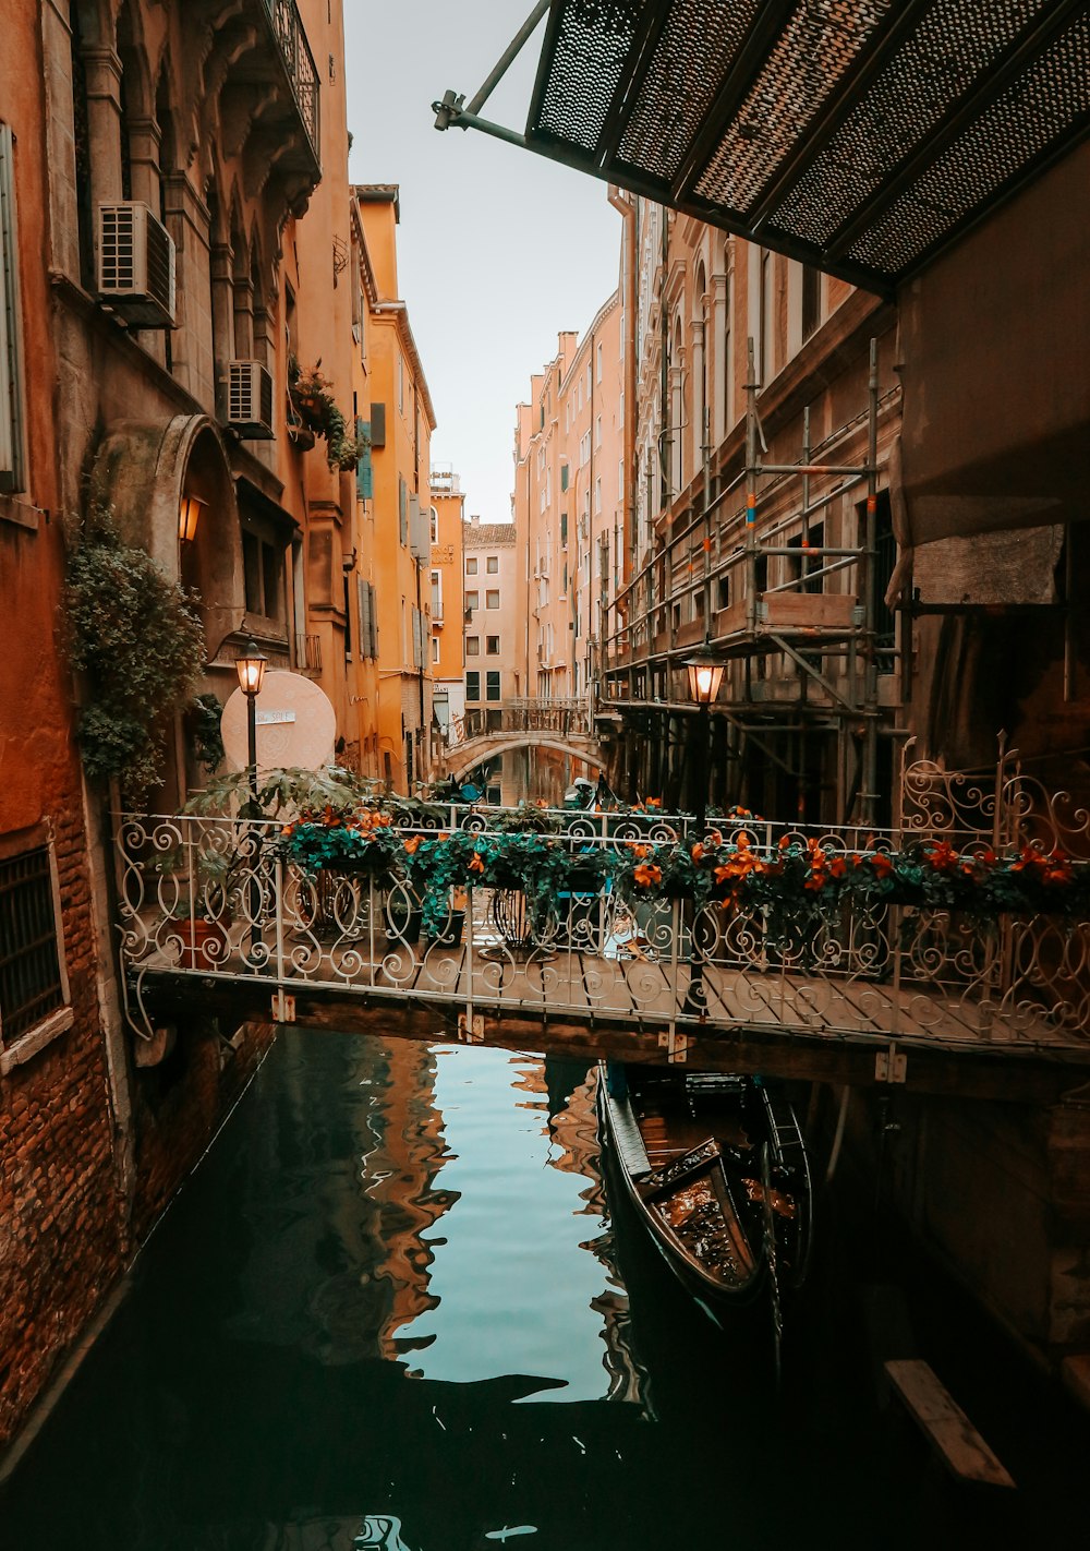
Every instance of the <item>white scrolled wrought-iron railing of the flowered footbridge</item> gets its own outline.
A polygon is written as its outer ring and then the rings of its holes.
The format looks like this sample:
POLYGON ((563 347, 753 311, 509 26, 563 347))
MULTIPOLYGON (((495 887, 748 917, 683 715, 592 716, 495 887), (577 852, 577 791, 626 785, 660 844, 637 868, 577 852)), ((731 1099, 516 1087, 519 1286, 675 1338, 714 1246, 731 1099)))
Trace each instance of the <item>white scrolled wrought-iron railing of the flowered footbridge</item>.
MULTIPOLYGON (((1090 816, 1034 789, 1005 755, 992 779, 907 766, 898 830, 788 827, 754 816, 712 819, 729 844, 744 834, 767 864, 785 847, 845 864, 899 847, 957 842, 966 858, 1031 845, 1090 850, 1090 816), (913 785, 915 783, 915 785, 913 785)), ((1062 794, 1061 794, 1062 797, 1062 794)), ((633 847, 701 839, 684 814, 428 805, 395 820, 397 844, 439 834, 549 830, 572 862, 633 847)), ((1000 910, 991 920, 881 895, 814 909, 812 898, 699 906, 571 879, 543 904, 530 887, 442 886, 422 931, 422 900, 402 869, 367 858, 307 870, 284 827, 237 817, 124 814, 118 825, 122 965, 130 1017, 149 1035, 149 974, 247 979, 271 990, 327 988, 541 1016, 785 1036, 937 1041, 946 1045, 1078 1044, 1090 1025, 1090 921, 1059 910, 1000 910)), ((608 869, 606 869, 608 870, 608 869)), ((426 893, 426 889, 425 889, 426 893)))

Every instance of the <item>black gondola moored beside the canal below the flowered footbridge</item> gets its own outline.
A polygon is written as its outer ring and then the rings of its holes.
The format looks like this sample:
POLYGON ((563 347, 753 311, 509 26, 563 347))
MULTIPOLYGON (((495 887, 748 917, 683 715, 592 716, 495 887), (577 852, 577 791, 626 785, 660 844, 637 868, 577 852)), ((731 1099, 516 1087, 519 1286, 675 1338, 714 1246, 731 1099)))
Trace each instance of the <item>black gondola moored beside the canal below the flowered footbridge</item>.
POLYGON ((620 1176, 668 1264, 719 1320, 785 1294, 811 1245, 809 1163, 792 1106, 757 1076, 602 1064, 598 1107, 620 1176))

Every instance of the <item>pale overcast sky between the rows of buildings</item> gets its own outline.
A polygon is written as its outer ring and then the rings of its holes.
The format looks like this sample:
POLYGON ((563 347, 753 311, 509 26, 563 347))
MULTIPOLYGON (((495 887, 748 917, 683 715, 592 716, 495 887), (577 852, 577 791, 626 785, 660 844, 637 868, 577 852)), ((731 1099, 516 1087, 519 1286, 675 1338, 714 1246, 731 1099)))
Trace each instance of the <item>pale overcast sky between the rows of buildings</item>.
MULTIPOLYGON (((439 430, 433 464, 462 476, 467 515, 510 515, 515 405, 617 284, 620 216, 606 185, 479 133, 439 133, 431 102, 474 95, 532 0, 344 0, 349 172, 400 183, 398 276, 439 430)), ((526 112, 544 22, 482 109, 526 112)))

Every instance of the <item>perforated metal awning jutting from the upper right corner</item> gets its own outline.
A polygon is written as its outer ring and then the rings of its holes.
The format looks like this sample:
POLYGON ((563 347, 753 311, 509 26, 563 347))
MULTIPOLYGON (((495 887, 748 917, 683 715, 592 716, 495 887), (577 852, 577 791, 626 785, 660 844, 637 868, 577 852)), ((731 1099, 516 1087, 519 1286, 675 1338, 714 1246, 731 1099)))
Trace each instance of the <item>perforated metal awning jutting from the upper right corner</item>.
MULTIPOLYGON (((526 135, 478 127, 892 290, 1090 129, 1085 0, 552 0, 526 135)), ((1042 233, 1042 240, 1048 234, 1042 233)))

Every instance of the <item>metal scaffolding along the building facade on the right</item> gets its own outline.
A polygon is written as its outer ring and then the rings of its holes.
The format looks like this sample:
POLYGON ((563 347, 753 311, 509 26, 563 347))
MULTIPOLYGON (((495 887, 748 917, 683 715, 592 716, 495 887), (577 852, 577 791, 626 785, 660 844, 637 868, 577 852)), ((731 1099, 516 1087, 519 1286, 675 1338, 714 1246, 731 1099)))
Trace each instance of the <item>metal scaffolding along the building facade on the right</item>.
POLYGON ((896 391, 879 397, 871 340, 865 411, 814 447, 806 408, 799 461, 777 462, 758 388, 750 340, 743 468, 716 472, 705 437, 702 479, 656 518, 643 563, 617 599, 600 713, 622 738, 643 731, 681 751, 659 771, 676 800, 687 779, 681 723, 693 710, 682 664, 696 647, 712 650, 727 664, 715 707, 726 727, 719 796, 752 807, 744 771, 757 760, 794 780, 800 816, 806 808, 814 820, 876 824, 890 788, 879 734, 887 703, 901 698, 896 622, 884 603, 888 493, 879 490, 879 422, 896 391))

